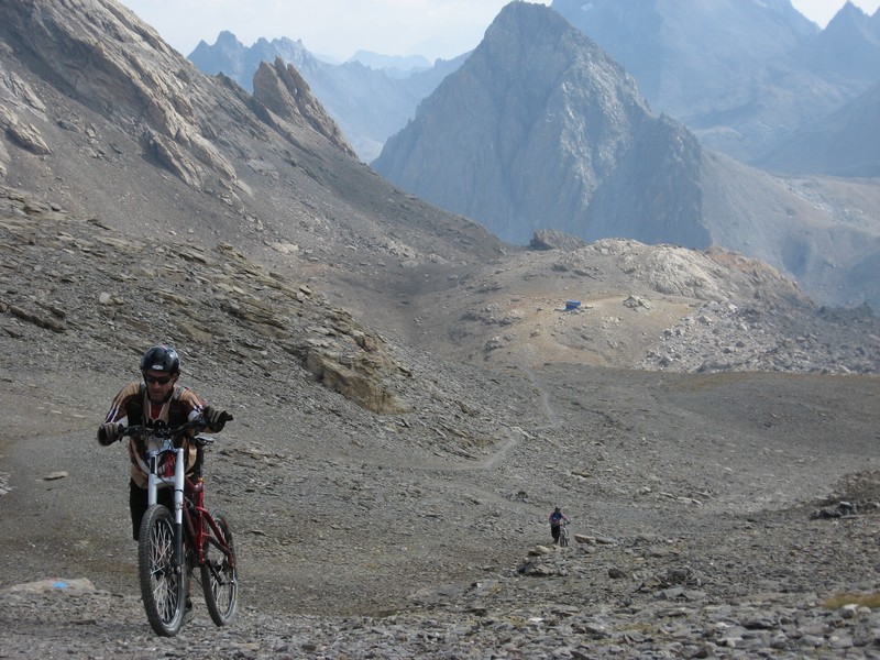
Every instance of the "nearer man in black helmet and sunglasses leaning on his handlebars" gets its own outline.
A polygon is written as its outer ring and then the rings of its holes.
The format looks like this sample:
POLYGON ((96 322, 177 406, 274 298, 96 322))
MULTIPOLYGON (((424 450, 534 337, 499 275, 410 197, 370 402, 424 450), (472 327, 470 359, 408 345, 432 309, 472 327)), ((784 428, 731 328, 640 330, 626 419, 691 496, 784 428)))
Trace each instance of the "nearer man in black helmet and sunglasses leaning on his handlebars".
MULTIPOLYGON (((180 359, 177 351, 169 346, 156 345, 148 349, 141 360, 143 382, 133 382, 119 391, 113 398, 105 422, 98 429, 98 442, 112 444, 121 438, 121 431, 130 426, 177 427, 187 421, 205 418, 207 430, 218 432, 226 422, 232 419, 226 410, 207 405, 199 395, 177 385, 180 376, 180 359)), ((194 433, 184 436, 183 443, 186 455, 186 471, 190 472, 196 463, 197 448, 193 442, 194 433)), ((132 436, 129 440, 129 458, 131 459, 131 482, 129 484, 129 508, 131 509, 132 536, 138 540, 141 519, 147 508, 146 447, 144 439, 132 436)), ((161 492, 161 496, 170 504, 173 493, 161 492)))

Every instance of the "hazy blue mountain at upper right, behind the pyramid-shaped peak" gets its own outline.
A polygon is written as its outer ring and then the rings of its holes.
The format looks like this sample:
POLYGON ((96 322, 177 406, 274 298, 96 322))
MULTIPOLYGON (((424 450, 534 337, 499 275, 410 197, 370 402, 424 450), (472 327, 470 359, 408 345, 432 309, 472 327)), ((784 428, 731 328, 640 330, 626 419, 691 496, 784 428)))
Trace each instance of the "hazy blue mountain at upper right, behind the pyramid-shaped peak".
POLYGON ((880 13, 850 3, 824 31, 789 0, 552 7, 626 67, 654 112, 744 162, 880 80, 880 13))

